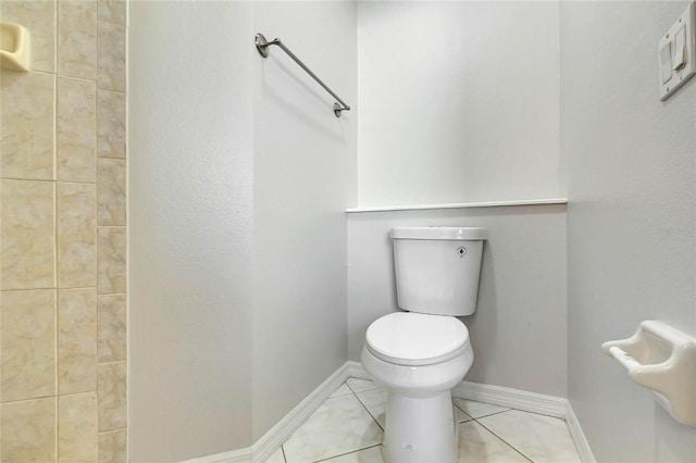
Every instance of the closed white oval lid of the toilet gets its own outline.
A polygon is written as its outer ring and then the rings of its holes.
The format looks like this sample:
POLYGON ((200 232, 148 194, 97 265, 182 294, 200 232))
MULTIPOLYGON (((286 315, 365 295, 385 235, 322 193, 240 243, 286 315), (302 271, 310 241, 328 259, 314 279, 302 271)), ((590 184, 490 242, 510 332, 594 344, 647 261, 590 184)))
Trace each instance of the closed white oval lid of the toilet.
POLYGON ((453 316, 396 312, 374 321, 365 346, 378 359, 400 365, 444 362, 469 346, 469 330, 453 316))

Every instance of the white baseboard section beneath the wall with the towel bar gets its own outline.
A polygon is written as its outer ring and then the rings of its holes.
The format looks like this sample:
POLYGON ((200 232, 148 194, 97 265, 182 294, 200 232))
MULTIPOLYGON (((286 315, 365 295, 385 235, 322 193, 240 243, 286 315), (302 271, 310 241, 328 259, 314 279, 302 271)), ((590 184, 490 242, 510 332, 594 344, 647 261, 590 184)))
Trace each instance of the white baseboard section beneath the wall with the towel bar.
POLYGON ((348 379, 349 372, 351 371, 351 363, 346 362, 343 364, 333 375, 331 375, 324 383, 319 385, 304 400, 302 400, 297 406, 283 417, 275 426, 273 426, 266 434, 264 434, 252 446, 253 461, 264 462, 273 452, 275 452, 283 442, 285 442, 291 435, 300 427, 302 423, 310 417, 312 413, 320 408, 322 403, 331 396, 340 385, 348 379))

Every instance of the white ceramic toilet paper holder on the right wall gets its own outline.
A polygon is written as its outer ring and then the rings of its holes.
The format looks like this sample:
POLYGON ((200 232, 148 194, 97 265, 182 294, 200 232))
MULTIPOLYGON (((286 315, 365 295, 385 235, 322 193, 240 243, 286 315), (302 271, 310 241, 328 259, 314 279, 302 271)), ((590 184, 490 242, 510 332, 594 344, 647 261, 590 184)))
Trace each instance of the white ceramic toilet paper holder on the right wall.
POLYGON ((650 389, 674 420, 696 426, 696 338, 645 321, 632 337, 607 341, 601 350, 623 365, 634 383, 650 389))

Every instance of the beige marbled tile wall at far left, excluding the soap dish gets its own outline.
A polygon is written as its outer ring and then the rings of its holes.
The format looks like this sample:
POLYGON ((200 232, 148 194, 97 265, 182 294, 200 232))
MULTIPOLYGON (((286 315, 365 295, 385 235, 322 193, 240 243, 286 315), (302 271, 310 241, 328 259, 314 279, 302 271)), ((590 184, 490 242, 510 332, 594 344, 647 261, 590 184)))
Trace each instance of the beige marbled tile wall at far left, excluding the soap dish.
POLYGON ((126 460, 126 16, 0 0, 0 463, 126 460))

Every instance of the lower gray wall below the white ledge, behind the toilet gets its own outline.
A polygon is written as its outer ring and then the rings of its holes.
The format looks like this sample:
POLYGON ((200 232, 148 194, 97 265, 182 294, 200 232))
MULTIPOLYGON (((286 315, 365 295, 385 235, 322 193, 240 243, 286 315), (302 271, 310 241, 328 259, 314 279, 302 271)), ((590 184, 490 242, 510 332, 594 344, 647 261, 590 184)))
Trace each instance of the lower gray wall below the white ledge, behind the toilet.
POLYGON ((397 310, 389 229, 426 225, 489 233, 477 310, 461 318, 474 349, 465 379, 566 397, 564 205, 350 214, 350 360, 360 360, 370 323, 397 310))

